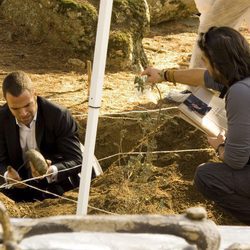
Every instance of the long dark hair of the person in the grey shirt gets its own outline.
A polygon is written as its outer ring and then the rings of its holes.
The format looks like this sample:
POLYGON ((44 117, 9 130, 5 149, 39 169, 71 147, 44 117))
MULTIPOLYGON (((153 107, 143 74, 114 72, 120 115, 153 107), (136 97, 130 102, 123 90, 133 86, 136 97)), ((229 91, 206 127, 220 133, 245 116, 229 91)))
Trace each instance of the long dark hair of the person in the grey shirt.
POLYGON ((200 34, 198 46, 228 86, 250 76, 250 47, 238 31, 230 27, 211 27, 200 34))

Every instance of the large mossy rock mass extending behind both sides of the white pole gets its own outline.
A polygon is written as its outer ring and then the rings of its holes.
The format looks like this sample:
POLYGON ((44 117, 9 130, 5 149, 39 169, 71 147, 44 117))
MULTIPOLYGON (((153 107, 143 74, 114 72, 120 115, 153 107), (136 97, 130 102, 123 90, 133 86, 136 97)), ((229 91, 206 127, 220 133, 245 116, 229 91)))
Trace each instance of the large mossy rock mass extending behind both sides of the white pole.
MULTIPOLYGON (((56 48, 92 60, 98 0, 4 0, 3 16, 28 41, 47 41, 56 48)), ((147 65, 142 38, 149 27, 146 0, 114 0, 107 65, 138 69, 147 65)))

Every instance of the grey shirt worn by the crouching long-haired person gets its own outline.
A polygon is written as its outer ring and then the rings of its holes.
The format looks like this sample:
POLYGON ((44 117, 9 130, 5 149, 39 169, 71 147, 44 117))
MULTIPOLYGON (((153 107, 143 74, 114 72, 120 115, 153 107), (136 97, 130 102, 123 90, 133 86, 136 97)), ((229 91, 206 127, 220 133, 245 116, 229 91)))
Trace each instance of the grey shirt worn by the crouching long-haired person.
MULTIPOLYGON (((204 75, 205 86, 221 90, 209 75, 204 75)), ((234 169, 243 168, 250 158, 250 77, 233 84, 225 97, 228 131, 226 135, 224 162, 234 169)))

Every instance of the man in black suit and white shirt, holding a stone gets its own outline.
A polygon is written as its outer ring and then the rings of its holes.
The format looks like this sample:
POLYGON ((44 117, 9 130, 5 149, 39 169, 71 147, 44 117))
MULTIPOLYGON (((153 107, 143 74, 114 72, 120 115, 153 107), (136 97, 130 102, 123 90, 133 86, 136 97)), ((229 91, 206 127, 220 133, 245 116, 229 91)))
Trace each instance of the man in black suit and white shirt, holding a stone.
POLYGON ((37 96, 23 71, 7 75, 2 90, 6 104, 0 109, 0 174, 2 183, 12 185, 0 191, 15 201, 32 201, 53 197, 38 189, 62 195, 78 187, 82 152, 69 111, 37 96), (29 149, 40 151, 47 160, 48 176, 28 181, 27 186, 15 180, 37 177, 25 159, 29 149))

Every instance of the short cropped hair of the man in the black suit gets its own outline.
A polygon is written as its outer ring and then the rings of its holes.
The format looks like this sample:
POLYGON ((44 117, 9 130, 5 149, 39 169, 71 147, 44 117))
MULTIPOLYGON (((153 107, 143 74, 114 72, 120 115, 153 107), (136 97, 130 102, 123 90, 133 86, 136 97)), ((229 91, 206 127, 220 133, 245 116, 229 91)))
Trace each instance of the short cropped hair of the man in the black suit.
POLYGON ((3 80, 2 91, 4 98, 6 98, 7 93, 17 97, 25 90, 32 91, 33 87, 31 79, 23 71, 12 72, 3 80))

